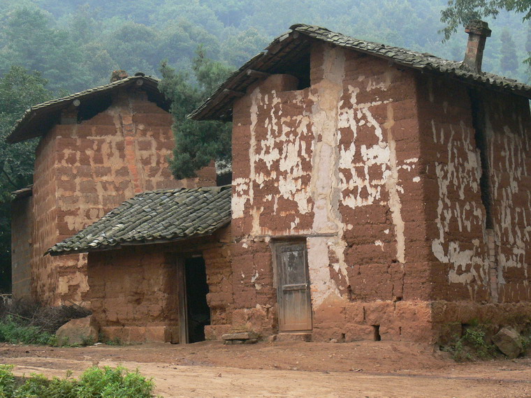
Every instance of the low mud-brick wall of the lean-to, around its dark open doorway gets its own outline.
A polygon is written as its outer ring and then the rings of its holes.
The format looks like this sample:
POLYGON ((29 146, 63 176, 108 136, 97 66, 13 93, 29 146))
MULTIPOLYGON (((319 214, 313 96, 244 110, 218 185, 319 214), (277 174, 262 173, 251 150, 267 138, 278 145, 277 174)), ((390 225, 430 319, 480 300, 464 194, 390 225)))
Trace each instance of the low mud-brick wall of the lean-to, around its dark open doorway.
POLYGON ((211 310, 207 339, 231 327, 232 270, 229 230, 170 244, 126 246, 89 253, 90 309, 107 339, 124 342, 179 342, 177 260, 191 254, 205 259, 211 310))

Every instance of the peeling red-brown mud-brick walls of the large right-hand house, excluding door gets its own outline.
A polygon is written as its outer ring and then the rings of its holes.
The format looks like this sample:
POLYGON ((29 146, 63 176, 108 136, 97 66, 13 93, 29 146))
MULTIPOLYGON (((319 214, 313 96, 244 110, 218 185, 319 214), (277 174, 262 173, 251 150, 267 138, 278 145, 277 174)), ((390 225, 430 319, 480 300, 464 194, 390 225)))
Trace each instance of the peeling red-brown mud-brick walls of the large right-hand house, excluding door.
POLYGON ((499 327, 528 314, 527 304, 481 304, 529 300, 527 101, 484 96, 489 246, 463 84, 322 43, 311 83, 296 90, 295 78, 272 75, 234 105, 235 327, 277 331, 271 244, 297 236, 314 340, 378 331, 435 343, 474 318, 499 327))

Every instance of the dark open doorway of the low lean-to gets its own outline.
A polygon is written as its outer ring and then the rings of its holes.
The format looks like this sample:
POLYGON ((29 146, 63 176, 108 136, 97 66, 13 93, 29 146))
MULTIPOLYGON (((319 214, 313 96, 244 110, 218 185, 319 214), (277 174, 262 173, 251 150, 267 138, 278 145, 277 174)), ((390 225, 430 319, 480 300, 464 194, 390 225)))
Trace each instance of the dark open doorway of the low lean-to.
POLYGON ((207 304, 207 273, 203 257, 184 260, 187 293, 188 342, 205 340, 205 326, 210 325, 210 307, 207 304))

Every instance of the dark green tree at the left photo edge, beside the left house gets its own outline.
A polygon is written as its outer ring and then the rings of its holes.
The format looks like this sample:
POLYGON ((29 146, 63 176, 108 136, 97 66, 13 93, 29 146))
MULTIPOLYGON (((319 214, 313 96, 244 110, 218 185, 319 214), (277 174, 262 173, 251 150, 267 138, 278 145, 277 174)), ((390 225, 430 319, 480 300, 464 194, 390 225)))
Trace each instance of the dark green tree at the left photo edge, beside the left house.
POLYGON ((38 72, 13 66, 0 78, 0 292, 10 289, 10 192, 31 184, 36 140, 9 145, 6 137, 31 105, 51 93, 38 72))

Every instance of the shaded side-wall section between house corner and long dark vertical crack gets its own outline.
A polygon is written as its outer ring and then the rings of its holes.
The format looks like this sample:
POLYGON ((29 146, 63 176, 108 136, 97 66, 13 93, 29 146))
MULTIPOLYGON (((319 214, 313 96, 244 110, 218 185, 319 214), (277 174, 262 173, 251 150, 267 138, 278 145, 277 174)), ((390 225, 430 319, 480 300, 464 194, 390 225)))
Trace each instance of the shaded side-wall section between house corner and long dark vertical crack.
POLYGON ((419 78, 433 300, 487 300, 488 248, 481 161, 467 87, 419 78))

